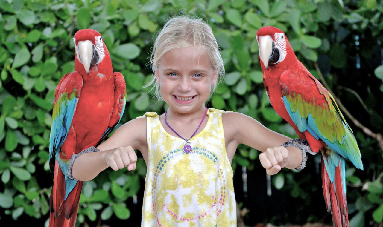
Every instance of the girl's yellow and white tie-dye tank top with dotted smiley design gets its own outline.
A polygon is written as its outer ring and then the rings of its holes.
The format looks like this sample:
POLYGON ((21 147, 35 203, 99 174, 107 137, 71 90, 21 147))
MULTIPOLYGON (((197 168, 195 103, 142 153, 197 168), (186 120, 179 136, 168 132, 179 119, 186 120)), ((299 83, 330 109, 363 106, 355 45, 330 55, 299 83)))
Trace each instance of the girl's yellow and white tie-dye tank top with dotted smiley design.
POLYGON ((208 109, 208 123, 190 139, 190 153, 183 152, 183 139, 165 131, 159 115, 144 115, 149 159, 142 226, 236 226, 233 171, 222 113, 208 109))

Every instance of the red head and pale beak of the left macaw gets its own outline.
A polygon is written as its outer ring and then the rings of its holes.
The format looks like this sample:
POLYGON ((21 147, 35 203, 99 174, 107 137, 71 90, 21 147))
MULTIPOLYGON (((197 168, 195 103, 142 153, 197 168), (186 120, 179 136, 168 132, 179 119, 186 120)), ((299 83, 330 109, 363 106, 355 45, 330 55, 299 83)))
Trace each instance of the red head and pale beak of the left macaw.
POLYGON ((105 57, 105 52, 108 52, 101 34, 93 29, 77 31, 73 40, 76 48, 76 58, 84 66, 87 73, 89 73, 90 66, 98 65, 105 57))

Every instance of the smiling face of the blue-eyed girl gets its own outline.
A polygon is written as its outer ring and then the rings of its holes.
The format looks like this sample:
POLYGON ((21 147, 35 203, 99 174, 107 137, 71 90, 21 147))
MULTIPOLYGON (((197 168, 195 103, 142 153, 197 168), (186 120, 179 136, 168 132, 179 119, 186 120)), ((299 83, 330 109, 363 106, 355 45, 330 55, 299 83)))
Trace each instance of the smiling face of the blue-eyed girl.
POLYGON ((211 67, 205 50, 196 46, 166 52, 155 70, 155 76, 169 109, 189 114, 205 107, 218 71, 211 67))

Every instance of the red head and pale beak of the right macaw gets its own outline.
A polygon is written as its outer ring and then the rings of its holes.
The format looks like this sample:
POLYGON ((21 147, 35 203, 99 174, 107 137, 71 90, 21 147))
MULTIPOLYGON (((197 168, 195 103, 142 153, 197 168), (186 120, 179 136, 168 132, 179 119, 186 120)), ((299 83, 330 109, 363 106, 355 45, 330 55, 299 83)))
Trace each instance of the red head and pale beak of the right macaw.
POLYGON ((288 52, 293 52, 285 33, 278 28, 271 26, 260 28, 257 31, 257 41, 259 58, 267 70, 269 65, 282 62, 288 52))

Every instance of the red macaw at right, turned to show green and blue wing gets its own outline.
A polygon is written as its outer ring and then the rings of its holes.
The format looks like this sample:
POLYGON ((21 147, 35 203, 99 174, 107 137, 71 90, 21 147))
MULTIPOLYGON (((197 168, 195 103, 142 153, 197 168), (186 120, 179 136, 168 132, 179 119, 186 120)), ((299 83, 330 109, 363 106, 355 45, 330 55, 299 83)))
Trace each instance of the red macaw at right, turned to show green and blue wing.
POLYGON ((363 170, 361 154, 350 126, 334 98, 296 58, 280 29, 257 32, 264 86, 275 111, 290 123, 312 151, 322 154, 322 186, 336 227, 349 226, 345 159, 363 170))

